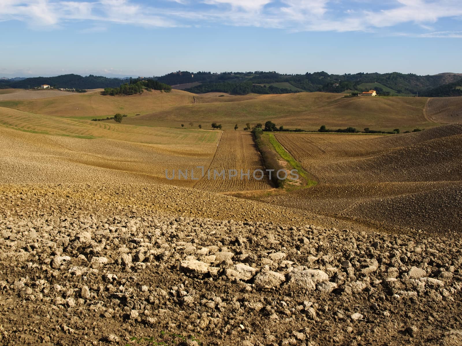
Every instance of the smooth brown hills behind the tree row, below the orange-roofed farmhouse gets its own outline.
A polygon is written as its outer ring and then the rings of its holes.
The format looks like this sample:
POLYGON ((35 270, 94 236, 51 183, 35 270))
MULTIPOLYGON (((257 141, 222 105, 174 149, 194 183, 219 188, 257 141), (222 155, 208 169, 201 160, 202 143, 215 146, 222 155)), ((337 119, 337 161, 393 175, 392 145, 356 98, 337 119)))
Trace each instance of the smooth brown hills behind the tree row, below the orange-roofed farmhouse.
MULTIPOLYGON (((194 95, 194 94, 190 94, 194 95)), ((206 128, 219 122, 224 130, 232 130, 234 124, 243 129, 249 122, 264 124, 267 120, 286 128, 317 130, 348 126, 363 130, 401 131, 414 128, 431 128, 438 124, 424 116, 424 97, 350 97, 330 93, 298 93, 284 95, 231 96, 223 93, 195 95, 196 102, 155 110, 127 119, 128 124, 177 126, 201 124, 206 128), (217 95, 218 94, 218 95, 217 95), (187 120, 185 120, 187 119, 187 120)))

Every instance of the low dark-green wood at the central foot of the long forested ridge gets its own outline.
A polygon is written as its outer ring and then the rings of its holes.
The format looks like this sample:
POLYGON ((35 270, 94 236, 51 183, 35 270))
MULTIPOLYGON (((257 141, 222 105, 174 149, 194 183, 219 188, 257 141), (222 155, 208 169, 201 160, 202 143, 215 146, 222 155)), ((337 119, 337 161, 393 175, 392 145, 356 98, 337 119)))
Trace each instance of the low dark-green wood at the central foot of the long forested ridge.
POLYGON ((293 90, 287 88, 279 88, 274 85, 267 87, 266 85, 253 84, 250 81, 242 83, 224 82, 224 83, 205 83, 196 85, 195 87, 185 89, 186 91, 195 94, 204 94, 208 92, 223 92, 232 95, 247 95, 247 94, 290 94, 293 90))

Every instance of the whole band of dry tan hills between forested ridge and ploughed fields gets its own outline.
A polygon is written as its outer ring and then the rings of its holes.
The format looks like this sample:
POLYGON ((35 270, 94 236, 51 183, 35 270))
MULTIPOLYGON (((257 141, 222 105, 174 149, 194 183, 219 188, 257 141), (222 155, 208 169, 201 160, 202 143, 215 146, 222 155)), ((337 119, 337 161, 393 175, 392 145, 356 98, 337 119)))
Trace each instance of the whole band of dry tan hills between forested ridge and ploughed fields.
MULTIPOLYGON (((15 94, 3 96, 11 95, 15 94)), ((236 123, 243 129, 247 122, 256 124, 267 120, 278 126, 305 130, 317 130, 321 125, 334 129, 353 126, 362 130, 369 127, 382 131, 431 128, 438 124, 426 119, 425 104, 426 98, 423 97, 344 98, 342 94, 329 93, 195 95, 182 90, 132 96, 102 96, 99 92, 92 92, 65 98, 0 101, 0 107, 66 118, 106 118, 125 113, 129 117, 124 123, 129 125, 179 127, 184 124, 190 127, 188 124, 192 122, 193 128, 199 124, 210 128, 212 122, 218 122, 225 130, 232 130, 236 123)))

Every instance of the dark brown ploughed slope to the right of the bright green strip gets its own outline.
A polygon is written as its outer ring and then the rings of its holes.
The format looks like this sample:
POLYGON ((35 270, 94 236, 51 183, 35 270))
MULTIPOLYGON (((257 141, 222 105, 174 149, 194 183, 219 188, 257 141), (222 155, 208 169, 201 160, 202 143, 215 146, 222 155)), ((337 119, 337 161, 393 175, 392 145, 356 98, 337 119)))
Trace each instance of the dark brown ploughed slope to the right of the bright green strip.
POLYGON ((320 185, 265 201, 381 227, 462 230, 455 222, 462 217, 460 124, 393 136, 276 138, 320 185))

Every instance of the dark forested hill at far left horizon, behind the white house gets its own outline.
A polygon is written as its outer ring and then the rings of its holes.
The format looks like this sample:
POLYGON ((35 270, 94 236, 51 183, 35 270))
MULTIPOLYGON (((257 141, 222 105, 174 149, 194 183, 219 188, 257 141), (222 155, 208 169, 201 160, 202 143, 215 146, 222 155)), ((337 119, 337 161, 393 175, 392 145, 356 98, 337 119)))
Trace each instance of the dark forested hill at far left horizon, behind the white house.
POLYGON ((26 78, 21 81, 1 80, 0 87, 3 85, 4 87, 26 89, 48 84, 55 88, 99 89, 116 88, 126 82, 126 80, 120 78, 107 78, 94 75, 82 77, 77 74, 66 74, 56 77, 26 78))

